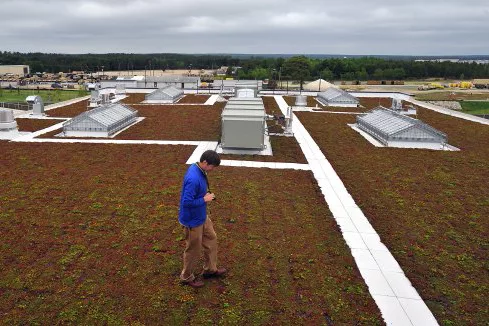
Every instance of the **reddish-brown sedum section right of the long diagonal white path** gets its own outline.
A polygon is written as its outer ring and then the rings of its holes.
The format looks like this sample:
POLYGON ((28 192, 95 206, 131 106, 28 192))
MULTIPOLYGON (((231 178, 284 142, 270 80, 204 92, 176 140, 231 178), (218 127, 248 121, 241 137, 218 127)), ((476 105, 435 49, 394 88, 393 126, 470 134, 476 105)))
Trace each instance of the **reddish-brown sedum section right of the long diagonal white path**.
POLYGON ((355 117, 298 112, 440 324, 488 319, 488 126, 425 109, 460 152, 377 148, 355 117), (328 128, 324 128, 328 126, 328 128))

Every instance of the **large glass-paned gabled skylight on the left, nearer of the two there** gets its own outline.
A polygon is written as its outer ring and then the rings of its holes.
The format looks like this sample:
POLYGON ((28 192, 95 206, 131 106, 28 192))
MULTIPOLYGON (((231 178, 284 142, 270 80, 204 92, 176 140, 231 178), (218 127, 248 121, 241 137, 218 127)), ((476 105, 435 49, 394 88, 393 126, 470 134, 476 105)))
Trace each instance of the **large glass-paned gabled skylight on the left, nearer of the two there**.
POLYGON ((110 137, 137 121, 138 111, 120 103, 99 106, 63 124, 67 137, 110 137))

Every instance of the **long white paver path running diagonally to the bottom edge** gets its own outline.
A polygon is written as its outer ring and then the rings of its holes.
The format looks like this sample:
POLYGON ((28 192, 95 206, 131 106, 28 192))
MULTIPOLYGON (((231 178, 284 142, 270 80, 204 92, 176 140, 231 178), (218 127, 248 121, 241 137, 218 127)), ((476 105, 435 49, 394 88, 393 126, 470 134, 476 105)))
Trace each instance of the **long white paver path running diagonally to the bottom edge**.
MULTIPOLYGON (((287 103, 274 96, 285 115, 287 103)), ((387 325, 438 325, 379 235, 301 122, 292 131, 387 325)))

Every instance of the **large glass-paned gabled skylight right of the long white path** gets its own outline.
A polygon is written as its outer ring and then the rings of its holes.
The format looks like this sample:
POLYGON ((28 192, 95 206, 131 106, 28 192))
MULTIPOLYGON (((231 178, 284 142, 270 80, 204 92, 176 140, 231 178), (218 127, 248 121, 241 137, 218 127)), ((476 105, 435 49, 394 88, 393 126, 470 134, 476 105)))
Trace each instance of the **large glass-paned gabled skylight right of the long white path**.
POLYGON ((357 126, 388 147, 439 149, 447 143, 446 134, 382 106, 357 116, 357 126))

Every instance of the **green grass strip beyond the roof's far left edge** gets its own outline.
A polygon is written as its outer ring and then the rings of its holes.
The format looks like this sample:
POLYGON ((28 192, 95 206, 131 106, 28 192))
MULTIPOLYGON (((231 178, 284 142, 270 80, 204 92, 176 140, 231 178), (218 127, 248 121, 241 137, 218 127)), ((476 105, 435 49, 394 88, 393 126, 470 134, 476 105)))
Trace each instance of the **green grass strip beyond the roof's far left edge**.
POLYGON ((43 102, 57 103, 71 100, 76 97, 86 96, 90 94, 84 90, 17 90, 17 89, 0 89, 0 102, 21 102, 25 103, 25 99, 30 95, 41 96, 43 102))

